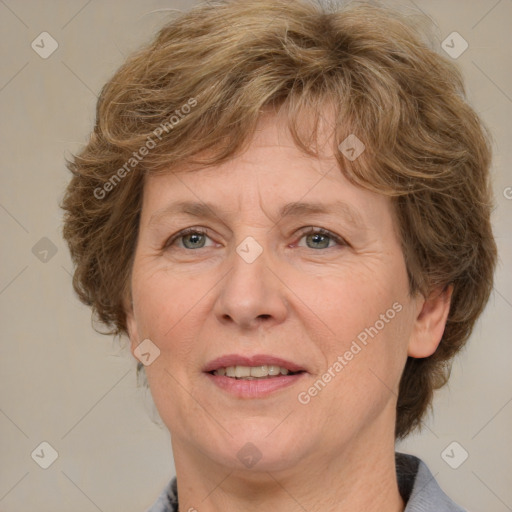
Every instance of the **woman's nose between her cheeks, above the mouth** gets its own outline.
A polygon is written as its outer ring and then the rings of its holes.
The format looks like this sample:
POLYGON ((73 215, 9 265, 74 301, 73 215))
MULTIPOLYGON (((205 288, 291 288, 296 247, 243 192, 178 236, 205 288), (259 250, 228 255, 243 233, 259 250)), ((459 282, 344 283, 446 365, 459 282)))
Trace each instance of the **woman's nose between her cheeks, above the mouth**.
MULTIPOLYGON (((247 246, 240 244, 239 250, 243 248, 247 246)), ((254 246, 250 249, 254 250, 254 246)), ((268 249, 264 249, 253 261, 245 257, 243 250, 240 253, 233 251, 230 269, 221 280, 214 307, 221 323, 249 330, 284 321, 288 288, 278 276, 272 260, 268 249)))

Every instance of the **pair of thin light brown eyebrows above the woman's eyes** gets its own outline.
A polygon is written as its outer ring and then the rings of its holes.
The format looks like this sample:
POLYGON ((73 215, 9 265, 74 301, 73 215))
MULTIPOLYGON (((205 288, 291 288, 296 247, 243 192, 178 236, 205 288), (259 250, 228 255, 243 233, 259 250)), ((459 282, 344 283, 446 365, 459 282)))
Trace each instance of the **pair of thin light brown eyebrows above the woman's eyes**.
MULTIPOLYGON (((294 201, 292 203, 285 204, 279 211, 279 218, 286 217, 301 217, 306 215, 314 214, 329 214, 334 213, 353 224, 355 227, 363 229, 365 223, 359 212, 353 209, 349 204, 343 201, 334 201, 332 203, 318 203, 318 202, 300 202, 294 201)), ((149 219, 149 225, 158 222, 163 217, 175 216, 175 215, 188 215, 190 217, 197 218, 220 218, 222 214, 219 214, 214 204, 208 202, 196 202, 196 201, 180 201, 172 203, 161 210, 157 210, 151 215, 149 219)))

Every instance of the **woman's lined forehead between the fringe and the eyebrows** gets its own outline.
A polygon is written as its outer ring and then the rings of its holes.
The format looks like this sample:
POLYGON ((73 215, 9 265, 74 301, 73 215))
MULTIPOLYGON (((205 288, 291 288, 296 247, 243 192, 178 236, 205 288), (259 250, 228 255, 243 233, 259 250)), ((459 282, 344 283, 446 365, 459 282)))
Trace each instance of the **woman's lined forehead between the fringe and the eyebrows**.
POLYGON ((351 183, 340 170, 325 136, 319 155, 295 144, 282 119, 264 116, 247 149, 218 165, 181 165, 150 175, 143 217, 223 216, 233 220, 262 209, 273 219, 332 214, 351 224, 371 224, 390 215, 389 198, 351 183))

